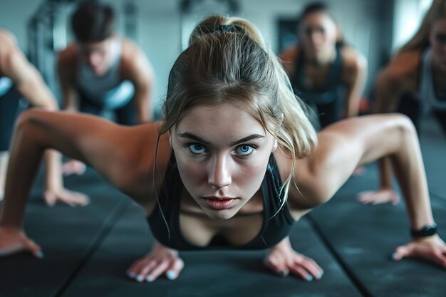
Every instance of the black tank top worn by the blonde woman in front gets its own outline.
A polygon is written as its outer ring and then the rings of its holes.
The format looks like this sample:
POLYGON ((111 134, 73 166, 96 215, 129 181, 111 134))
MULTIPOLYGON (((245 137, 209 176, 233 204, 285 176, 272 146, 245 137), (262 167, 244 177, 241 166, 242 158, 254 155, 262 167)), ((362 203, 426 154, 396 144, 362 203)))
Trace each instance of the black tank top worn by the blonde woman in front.
POLYGON ((249 243, 240 246, 227 244, 219 236, 215 236, 208 246, 195 246, 188 242, 180 231, 180 197, 184 187, 176 166, 175 155, 172 152, 157 205, 147 221, 155 238, 172 249, 267 249, 288 236, 294 226, 294 219, 286 204, 280 208, 281 185, 279 169, 271 154, 264 180, 261 183, 264 222, 259 234, 249 243))

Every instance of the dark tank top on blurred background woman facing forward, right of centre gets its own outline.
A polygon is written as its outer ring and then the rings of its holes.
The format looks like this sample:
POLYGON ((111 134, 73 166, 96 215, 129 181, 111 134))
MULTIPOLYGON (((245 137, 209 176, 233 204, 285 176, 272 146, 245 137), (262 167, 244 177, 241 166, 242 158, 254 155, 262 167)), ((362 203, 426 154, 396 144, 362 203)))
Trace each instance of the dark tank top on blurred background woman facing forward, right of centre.
POLYGON ((342 55, 341 46, 336 45, 336 58, 331 63, 330 72, 323 88, 310 88, 305 83, 305 57, 304 51, 299 52, 294 68, 294 77, 291 81, 294 93, 304 100, 307 104, 323 105, 340 100, 345 96, 345 85, 342 81, 342 55))

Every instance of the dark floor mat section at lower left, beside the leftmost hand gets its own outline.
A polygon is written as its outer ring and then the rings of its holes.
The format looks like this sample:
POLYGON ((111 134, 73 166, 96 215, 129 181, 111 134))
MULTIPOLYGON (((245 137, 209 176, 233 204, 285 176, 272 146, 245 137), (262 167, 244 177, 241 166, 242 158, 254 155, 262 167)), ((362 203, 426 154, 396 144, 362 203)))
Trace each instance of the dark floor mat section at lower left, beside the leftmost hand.
MULTIPOLYGON (((43 247, 45 259, 30 254, 0 258, 0 296, 57 296, 130 203, 93 171, 67 179, 68 186, 74 183, 78 186, 72 189, 90 195, 88 207, 47 207, 41 197, 31 197, 25 230, 43 247)), ((40 193, 38 188, 33 194, 40 193)))

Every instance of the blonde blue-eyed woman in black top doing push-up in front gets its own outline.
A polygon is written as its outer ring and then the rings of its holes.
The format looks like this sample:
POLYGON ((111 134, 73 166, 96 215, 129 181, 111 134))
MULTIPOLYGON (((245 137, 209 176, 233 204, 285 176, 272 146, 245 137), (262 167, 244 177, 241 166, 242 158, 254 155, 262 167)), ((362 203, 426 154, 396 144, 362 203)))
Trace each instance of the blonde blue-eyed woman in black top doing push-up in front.
POLYGON ((42 256, 22 219, 46 147, 87 162, 145 210, 157 242, 128 270, 136 281, 177 278, 180 249, 267 249, 264 263, 274 273, 321 278, 321 267, 291 247, 291 227, 331 199, 358 165, 385 155, 400 166, 417 237, 395 259, 435 262, 441 256, 433 251, 446 249, 435 232, 410 121, 373 115, 316 134, 279 60, 244 19, 213 16, 195 28, 170 71, 164 115, 162 123, 135 127, 91 115, 22 115, 0 216, 0 254, 42 256), (26 187, 12 182, 19 178, 26 187))

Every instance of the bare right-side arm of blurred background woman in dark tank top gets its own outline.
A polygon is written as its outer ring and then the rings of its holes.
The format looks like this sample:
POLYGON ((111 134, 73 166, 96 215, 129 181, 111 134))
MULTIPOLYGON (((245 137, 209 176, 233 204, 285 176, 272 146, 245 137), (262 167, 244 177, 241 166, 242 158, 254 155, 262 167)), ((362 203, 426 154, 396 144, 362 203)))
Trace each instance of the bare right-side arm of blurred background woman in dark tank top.
POLYGON ((367 80, 367 59, 352 48, 345 48, 343 55, 343 79, 346 83, 345 118, 359 115, 361 96, 367 80))

